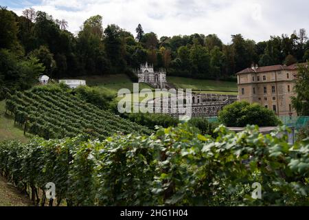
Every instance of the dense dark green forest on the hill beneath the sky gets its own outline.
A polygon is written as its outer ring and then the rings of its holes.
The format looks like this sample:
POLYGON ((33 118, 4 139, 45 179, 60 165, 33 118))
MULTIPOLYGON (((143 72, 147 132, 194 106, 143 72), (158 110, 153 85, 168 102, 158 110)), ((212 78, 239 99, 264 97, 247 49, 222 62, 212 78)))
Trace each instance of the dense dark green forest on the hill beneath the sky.
POLYGON ((115 24, 103 29, 102 23, 102 16, 90 17, 74 35, 67 21, 45 12, 30 8, 19 17, 1 7, 1 91, 27 89, 38 74, 62 78, 130 73, 146 61, 170 76, 229 80, 252 63, 290 65, 309 58, 304 29, 259 43, 235 34, 225 45, 216 34, 158 39, 153 32, 144 33, 140 24, 133 35, 115 24))

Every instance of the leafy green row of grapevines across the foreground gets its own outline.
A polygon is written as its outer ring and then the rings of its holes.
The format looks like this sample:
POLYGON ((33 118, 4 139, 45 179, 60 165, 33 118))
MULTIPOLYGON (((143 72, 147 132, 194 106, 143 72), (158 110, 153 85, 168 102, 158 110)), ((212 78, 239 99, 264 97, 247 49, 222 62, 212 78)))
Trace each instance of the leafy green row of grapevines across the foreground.
POLYGON ((8 140, 0 142, 0 169, 32 192, 54 182, 58 204, 69 206, 308 206, 308 138, 291 146, 282 132, 219 126, 214 139, 182 124, 102 142, 8 140), (262 199, 251 197, 255 182, 262 199))

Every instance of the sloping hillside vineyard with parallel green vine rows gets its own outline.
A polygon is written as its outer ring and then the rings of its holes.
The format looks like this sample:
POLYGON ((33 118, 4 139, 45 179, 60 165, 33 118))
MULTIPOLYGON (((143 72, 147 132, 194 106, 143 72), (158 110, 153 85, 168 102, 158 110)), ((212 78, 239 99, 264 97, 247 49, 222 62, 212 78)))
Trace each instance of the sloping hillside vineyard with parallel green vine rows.
POLYGON ((113 133, 150 133, 144 126, 56 91, 16 92, 6 109, 25 132, 46 139, 84 134, 102 140, 113 133))

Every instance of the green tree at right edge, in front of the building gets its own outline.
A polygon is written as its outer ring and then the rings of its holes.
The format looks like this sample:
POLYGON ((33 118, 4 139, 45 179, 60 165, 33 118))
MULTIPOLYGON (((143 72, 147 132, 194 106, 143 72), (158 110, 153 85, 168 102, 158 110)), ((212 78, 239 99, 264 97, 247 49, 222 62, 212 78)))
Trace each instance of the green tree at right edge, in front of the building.
POLYGON ((296 97, 292 97, 293 107, 298 115, 309 115, 309 67, 298 65, 297 80, 295 82, 296 97))

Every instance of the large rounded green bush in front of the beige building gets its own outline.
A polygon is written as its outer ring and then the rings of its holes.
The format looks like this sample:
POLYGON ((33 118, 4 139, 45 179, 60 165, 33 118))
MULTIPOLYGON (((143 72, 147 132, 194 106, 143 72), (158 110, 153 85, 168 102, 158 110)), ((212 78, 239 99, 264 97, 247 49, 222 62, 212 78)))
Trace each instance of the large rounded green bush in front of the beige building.
POLYGON ((274 111, 258 103, 249 104, 246 101, 233 102, 225 106, 218 116, 219 121, 226 126, 247 126, 247 124, 277 126, 282 124, 274 111))

